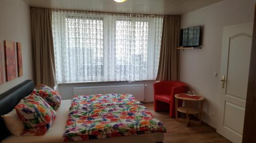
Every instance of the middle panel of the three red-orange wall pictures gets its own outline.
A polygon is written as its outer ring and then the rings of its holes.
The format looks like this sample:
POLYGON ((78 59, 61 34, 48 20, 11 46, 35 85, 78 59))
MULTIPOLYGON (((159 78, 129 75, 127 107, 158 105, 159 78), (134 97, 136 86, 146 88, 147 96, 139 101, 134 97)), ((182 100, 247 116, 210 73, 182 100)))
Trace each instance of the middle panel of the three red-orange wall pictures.
POLYGON ((17 77, 15 42, 4 41, 5 45, 5 73, 6 81, 11 81, 17 77))

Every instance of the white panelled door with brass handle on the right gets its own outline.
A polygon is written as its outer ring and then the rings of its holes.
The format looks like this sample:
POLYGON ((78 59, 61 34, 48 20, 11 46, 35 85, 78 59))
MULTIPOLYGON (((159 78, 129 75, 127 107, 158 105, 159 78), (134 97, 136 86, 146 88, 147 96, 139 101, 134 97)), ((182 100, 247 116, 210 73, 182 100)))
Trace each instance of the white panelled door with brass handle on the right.
POLYGON ((249 75, 252 22, 223 29, 220 118, 217 132, 235 143, 242 142, 249 75))

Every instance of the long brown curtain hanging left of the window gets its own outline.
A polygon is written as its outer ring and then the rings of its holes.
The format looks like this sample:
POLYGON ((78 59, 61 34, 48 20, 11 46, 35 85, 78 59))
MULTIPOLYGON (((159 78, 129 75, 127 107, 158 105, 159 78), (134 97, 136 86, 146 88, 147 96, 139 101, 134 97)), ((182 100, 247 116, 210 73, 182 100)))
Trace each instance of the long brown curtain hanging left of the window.
POLYGON ((33 76, 35 85, 54 87, 55 61, 51 9, 31 8, 33 76))

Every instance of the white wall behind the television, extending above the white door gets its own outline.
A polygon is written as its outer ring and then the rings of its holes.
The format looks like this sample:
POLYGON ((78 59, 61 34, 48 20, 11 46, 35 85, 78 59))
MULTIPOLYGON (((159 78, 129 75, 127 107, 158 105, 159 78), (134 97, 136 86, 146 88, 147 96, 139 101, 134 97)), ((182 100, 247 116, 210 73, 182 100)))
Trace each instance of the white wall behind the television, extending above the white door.
POLYGON ((187 13, 181 27, 203 26, 202 51, 180 50, 180 79, 191 90, 206 97, 203 121, 216 128, 220 105, 220 74, 223 26, 253 21, 253 0, 224 0, 187 13), (214 113, 215 117, 211 114, 214 113))

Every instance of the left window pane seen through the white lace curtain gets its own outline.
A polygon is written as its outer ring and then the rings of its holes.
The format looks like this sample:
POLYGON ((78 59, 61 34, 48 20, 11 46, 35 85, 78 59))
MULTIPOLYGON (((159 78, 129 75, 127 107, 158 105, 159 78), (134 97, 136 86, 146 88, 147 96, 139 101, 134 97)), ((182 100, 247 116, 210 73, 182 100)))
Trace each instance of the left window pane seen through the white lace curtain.
POLYGON ((103 76, 103 20, 66 18, 70 80, 103 76))

